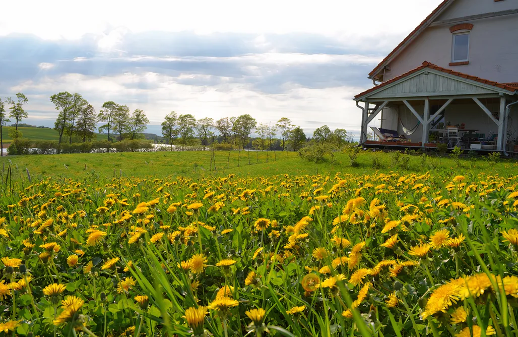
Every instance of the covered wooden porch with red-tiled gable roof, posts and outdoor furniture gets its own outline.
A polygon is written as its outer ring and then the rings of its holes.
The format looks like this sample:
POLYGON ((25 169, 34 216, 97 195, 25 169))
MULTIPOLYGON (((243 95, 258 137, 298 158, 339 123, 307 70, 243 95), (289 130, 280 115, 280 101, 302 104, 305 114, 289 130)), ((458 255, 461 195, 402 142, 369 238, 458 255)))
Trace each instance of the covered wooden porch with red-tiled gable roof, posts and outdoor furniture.
POLYGON ((360 143, 392 148, 436 148, 444 143, 450 148, 514 152, 518 109, 509 104, 517 100, 516 88, 425 62, 355 96, 363 113, 360 143), (369 132, 375 139, 368 139, 369 132))

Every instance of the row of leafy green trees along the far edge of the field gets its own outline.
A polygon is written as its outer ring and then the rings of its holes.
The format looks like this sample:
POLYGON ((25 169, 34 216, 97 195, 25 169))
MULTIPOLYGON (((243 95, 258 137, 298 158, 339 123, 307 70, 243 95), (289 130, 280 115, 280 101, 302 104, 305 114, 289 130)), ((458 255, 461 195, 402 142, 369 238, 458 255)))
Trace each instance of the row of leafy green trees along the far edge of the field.
MULTIPOLYGON (((58 144, 62 142, 71 144, 74 139, 80 139, 83 143, 90 141, 94 138, 96 129, 99 133, 106 133, 110 142, 133 140, 142 136, 149 123, 142 109, 131 112, 127 105, 113 101, 105 102, 97 113, 92 104, 79 93, 63 91, 51 95, 50 101, 59 111, 53 128, 59 134, 58 144), (96 128, 97 123, 101 124, 98 128, 96 128)), ((13 124, 15 130, 12 130, 9 135, 12 138, 22 136, 18 125, 28 117, 24 109, 27 102, 27 97, 20 92, 14 99, 7 97, 5 103, 0 99, 0 146, 3 147, 2 127, 10 122, 9 118, 15 121, 13 124), (6 115, 6 104, 9 105, 9 115, 6 115)), ((196 119, 191 114, 178 115, 175 111, 168 114, 162 122, 162 136, 166 138, 171 148, 173 145, 180 145, 182 149, 184 146, 196 143, 198 138, 202 146, 223 143, 237 149, 298 151, 311 140, 306 137, 302 128, 294 125, 286 117, 272 124, 257 123, 249 114, 214 120, 210 117, 196 119), (255 137, 252 137, 252 133, 255 137)), ((324 125, 313 132, 312 140, 339 148, 345 143, 353 142, 352 137, 353 135, 348 134, 344 129, 331 131, 327 125, 324 125)))

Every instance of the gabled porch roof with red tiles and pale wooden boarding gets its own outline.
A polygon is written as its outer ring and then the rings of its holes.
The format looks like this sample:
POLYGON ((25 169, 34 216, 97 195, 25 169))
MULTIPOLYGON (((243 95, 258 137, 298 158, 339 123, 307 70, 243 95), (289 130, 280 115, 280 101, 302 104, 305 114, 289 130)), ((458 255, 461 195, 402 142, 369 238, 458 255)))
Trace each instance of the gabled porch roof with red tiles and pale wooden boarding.
POLYGON ((518 93, 518 87, 514 83, 498 83, 425 61, 421 66, 405 74, 357 94, 354 100, 473 94, 514 95, 516 93, 518 93))

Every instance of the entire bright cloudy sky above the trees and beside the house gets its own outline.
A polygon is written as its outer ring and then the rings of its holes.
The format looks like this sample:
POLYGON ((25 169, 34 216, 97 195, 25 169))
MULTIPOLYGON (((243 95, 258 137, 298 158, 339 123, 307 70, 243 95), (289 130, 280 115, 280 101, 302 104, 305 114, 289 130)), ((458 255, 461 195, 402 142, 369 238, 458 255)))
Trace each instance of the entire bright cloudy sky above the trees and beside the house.
POLYGON ((440 0, 10 1, 0 20, 0 97, 23 92, 52 126, 50 95, 78 92, 146 111, 160 134, 170 111, 196 118, 287 117, 311 135, 356 135, 352 98, 367 74, 440 0), (21 8, 23 7, 23 8, 21 8))

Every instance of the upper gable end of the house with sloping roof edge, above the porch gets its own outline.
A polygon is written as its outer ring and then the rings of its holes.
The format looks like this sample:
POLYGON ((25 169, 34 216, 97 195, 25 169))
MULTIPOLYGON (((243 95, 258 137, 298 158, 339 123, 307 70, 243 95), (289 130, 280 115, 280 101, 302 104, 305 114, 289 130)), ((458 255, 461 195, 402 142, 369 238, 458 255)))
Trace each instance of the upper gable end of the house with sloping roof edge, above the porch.
POLYGON ((369 73, 369 78, 389 80, 418 66, 423 59, 444 67, 468 65, 467 62, 455 64, 452 61, 453 32, 450 29, 455 28, 454 32, 458 33, 462 32, 459 27, 469 26, 476 42, 472 47, 470 45, 470 54, 478 64, 462 68, 462 71, 501 82, 515 82, 518 74, 514 74, 516 72, 512 71, 511 65, 515 64, 516 44, 506 41, 516 40, 516 20, 518 0, 443 1, 369 73), (495 36, 498 38, 495 39, 495 36), (494 77, 493 73, 500 74, 494 77))

